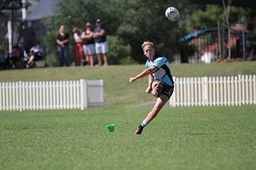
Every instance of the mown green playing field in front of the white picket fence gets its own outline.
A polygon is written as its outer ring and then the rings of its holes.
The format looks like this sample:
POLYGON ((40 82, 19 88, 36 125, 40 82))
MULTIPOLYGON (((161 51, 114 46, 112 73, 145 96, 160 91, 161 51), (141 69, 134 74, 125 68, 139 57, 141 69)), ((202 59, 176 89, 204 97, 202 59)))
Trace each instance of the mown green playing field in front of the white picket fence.
POLYGON ((255 169, 256 106, 0 113, 0 169, 255 169), (115 124, 108 132, 107 124, 115 124))

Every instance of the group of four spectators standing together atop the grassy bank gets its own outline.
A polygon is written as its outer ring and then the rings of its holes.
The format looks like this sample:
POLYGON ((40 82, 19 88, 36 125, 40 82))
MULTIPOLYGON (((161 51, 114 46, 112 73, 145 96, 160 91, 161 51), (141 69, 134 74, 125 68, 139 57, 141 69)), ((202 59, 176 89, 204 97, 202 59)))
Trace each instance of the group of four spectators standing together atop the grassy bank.
MULTIPOLYGON (((106 29, 101 23, 101 19, 95 21, 95 29, 87 22, 84 29, 73 28, 73 38, 75 40, 75 65, 108 65, 107 53, 109 46, 107 43, 106 29), (98 63, 94 63, 94 55, 97 55, 98 63)), ((56 38, 58 47, 58 58, 61 66, 70 65, 69 57, 70 35, 66 32, 65 26, 61 25, 56 38)))

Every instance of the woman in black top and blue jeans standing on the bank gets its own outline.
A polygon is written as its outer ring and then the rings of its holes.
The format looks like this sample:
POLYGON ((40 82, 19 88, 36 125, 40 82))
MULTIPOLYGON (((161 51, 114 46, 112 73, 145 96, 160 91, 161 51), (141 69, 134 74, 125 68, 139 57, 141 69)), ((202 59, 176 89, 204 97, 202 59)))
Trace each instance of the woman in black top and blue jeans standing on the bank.
POLYGON ((70 35, 66 32, 65 26, 61 25, 59 28, 59 33, 56 38, 57 49, 58 49, 58 59, 60 66, 67 65, 70 66, 70 35))

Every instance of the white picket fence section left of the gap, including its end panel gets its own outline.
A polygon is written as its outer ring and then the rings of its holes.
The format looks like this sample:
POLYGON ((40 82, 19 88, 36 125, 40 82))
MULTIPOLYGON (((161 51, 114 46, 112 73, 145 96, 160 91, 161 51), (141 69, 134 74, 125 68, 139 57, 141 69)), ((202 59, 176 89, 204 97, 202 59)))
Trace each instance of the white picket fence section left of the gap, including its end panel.
POLYGON ((0 110, 84 110, 101 106, 104 106, 102 79, 0 82, 0 110))

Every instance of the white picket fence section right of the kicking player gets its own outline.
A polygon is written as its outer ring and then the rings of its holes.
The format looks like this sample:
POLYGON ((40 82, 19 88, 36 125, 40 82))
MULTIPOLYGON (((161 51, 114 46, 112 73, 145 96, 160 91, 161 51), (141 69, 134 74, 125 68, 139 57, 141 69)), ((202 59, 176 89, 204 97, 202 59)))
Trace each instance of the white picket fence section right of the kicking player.
POLYGON ((175 91, 169 105, 255 105, 256 76, 174 77, 175 91))

